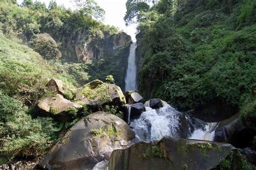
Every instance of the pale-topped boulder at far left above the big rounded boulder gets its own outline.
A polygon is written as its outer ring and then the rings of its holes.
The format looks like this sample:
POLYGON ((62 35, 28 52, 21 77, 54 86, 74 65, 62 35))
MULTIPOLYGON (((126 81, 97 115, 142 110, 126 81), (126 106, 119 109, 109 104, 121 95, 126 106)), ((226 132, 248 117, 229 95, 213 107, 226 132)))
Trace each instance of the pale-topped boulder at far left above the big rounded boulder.
POLYGON ((43 115, 53 117, 59 121, 70 121, 82 105, 65 99, 61 94, 54 97, 46 97, 38 101, 39 112, 43 115))

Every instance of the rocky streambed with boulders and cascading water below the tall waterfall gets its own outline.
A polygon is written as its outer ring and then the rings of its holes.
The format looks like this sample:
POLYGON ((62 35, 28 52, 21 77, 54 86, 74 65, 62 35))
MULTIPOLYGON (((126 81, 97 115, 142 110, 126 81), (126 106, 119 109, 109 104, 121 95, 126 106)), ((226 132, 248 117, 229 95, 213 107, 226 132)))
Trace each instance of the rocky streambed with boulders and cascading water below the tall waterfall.
POLYGON ((250 140, 238 140, 253 138, 255 131, 239 124, 238 115, 206 123, 161 99, 145 101, 137 91, 123 94, 120 87, 100 80, 73 91, 75 96, 66 99, 61 82, 51 81, 48 86, 56 94, 39 100, 38 114, 63 123, 79 121, 63 130, 36 168, 255 168, 256 153, 250 149, 250 140), (85 106, 90 114, 83 117, 85 106), (122 116, 116 114, 121 111, 122 116))

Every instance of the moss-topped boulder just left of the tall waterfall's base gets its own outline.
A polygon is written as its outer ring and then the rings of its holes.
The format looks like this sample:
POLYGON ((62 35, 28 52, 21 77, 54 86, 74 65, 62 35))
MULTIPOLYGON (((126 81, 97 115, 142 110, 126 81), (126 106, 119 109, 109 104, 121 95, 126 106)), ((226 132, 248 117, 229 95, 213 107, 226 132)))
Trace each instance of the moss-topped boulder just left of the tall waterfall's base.
POLYGON ((122 106, 126 103, 120 87, 114 84, 106 84, 100 80, 94 80, 84 85, 76 92, 76 100, 83 101, 89 106, 114 105, 122 106))

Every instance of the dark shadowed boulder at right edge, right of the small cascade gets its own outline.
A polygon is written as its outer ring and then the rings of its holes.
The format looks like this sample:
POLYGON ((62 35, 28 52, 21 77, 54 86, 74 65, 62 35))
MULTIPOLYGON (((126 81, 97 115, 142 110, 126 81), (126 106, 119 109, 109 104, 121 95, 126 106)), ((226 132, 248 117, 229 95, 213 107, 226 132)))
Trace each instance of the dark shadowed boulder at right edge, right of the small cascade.
POLYGON ((252 145, 256 131, 241 124, 239 113, 220 121, 215 130, 214 141, 227 142, 235 147, 245 148, 252 145))

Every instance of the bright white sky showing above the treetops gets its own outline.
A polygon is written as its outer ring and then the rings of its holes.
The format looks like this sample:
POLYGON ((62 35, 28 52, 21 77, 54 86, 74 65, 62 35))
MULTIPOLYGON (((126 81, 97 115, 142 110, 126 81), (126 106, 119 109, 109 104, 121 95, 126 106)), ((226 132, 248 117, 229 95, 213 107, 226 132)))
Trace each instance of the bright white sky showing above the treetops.
MULTIPOLYGON (((35 0, 33 0, 35 1, 35 0)), ((50 0, 39 0, 45 2, 48 6, 50 0)), ((125 26, 124 16, 126 12, 125 3, 127 0, 96 0, 98 5, 105 10, 105 21, 107 25, 117 26, 120 30, 124 30, 135 41, 136 25, 125 26)), ((22 3, 23 0, 17 0, 18 3, 22 3)), ((73 9, 73 5, 70 0, 56 0, 60 5, 64 5, 66 8, 73 9)))

